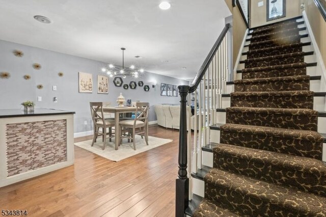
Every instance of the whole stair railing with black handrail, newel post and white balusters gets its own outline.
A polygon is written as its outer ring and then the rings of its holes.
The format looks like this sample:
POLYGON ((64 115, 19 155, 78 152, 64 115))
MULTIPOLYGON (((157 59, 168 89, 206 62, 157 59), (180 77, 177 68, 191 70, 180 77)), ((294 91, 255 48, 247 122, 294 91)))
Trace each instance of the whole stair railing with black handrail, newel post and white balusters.
POLYGON ((214 43, 208 53, 204 63, 197 72, 192 83, 179 86, 180 94, 180 131, 179 131, 179 154, 178 154, 178 178, 176 179, 176 211, 175 216, 185 215, 189 199, 192 199, 192 180, 191 171, 201 168, 201 147, 209 134, 209 124, 214 122, 216 108, 221 107, 221 96, 226 92, 226 82, 228 81, 228 45, 227 32, 230 24, 226 24, 218 40, 214 43), (199 97, 197 89, 199 87, 199 97), (192 163, 191 154, 191 125, 190 125, 190 103, 187 107, 187 97, 190 102, 190 94, 194 93, 194 153, 192 163), (206 97, 206 95, 208 97, 206 97), (199 124, 197 124, 197 98, 199 99, 199 124), (207 98, 207 100, 206 100, 207 98), (211 98, 211 99, 210 99, 211 98), (188 120, 187 120, 188 109, 188 120), (215 111, 214 111, 215 110, 215 111), (207 114, 207 118, 206 117, 207 114), (204 117, 204 118, 203 118, 204 117), (206 120, 207 119, 207 120, 206 120), (197 128, 199 129, 199 141, 197 143, 197 128), (207 131, 206 131, 207 129, 207 131), (187 135, 188 131, 188 135, 187 135), (191 171, 188 169, 190 168, 191 171), (188 171, 187 171, 188 169, 188 171))

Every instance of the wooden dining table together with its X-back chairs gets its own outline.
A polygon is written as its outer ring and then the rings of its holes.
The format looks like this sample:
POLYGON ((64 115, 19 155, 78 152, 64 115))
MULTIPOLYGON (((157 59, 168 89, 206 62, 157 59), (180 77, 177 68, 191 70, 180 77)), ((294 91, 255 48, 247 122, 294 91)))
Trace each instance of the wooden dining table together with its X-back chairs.
POLYGON ((102 150, 107 139, 114 141, 114 149, 118 150, 123 139, 132 142, 136 150, 135 136, 140 135, 148 144, 148 114, 149 102, 135 102, 133 105, 111 106, 110 102, 90 102, 91 116, 94 127, 92 145, 102 139, 102 150), (113 117, 112 117, 113 116, 113 117))

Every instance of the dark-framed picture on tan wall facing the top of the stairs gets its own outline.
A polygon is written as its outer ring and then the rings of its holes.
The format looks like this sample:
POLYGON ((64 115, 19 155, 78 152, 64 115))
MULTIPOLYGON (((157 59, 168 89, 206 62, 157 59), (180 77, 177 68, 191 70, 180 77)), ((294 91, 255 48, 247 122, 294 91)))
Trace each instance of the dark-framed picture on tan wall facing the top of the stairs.
POLYGON ((286 0, 267 0, 266 21, 286 16, 286 0))

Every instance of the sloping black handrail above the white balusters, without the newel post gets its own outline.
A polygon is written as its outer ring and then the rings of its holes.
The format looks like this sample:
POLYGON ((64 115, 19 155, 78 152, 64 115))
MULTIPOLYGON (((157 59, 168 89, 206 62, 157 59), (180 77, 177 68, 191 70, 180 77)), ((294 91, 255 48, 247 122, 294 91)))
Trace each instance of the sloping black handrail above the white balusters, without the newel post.
MULTIPOLYGON (((204 60, 204 63, 202 66, 199 68, 195 78, 193 79, 192 83, 189 85, 189 92, 188 93, 193 93, 197 88, 200 82, 202 81, 202 78, 204 74, 206 73, 209 64, 211 63, 213 57, 216 54, 216 51, 219 49, 223 38, 227 34, 228 30, 230 29, 230 23, 225 24, 224 29, 222 30, 222 33, 220 34, 218 40, 214 43, 213 47, 210 49, 206 59, 204 60)), ((180 125, 181 126, 181 125, 180 125)))

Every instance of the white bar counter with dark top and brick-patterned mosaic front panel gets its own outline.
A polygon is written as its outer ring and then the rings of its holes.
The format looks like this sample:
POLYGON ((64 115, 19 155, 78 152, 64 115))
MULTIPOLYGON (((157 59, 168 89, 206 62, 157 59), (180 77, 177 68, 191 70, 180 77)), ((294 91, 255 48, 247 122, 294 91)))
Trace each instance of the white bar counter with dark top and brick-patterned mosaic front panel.
POLYGON ((0 187, 73 165, 73 114, 0 110, 0 187))

